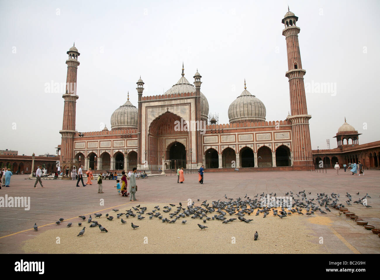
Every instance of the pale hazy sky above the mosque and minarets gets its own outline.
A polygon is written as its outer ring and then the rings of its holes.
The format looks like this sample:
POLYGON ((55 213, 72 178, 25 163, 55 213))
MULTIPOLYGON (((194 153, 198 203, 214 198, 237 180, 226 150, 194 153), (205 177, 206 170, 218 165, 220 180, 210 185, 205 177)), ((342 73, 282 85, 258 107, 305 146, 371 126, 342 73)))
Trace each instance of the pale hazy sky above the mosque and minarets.
POLYGON ((228 123, 228 106, 244 90, 266 106, 266 120, 290 110, 287 56, 281 20, 297 26, 312 148, 337 146, 347 122, 359 144, 380 140, 378 125, 380 14, 378 1, 0 1, 2 137, 0 149, 19 155, 55 154, 61 142, 63 92, 73 45, 78 61, 76 130, 110 129, 111 114, 127 100, 162 94, 181 77, 201 91, 211 113, 228 123), (329 92, 318 86, 330 85, 329 92), (327 84, 329 83, 329 84, 327 84), (364 125, 366 123, 366 126, 364 125))

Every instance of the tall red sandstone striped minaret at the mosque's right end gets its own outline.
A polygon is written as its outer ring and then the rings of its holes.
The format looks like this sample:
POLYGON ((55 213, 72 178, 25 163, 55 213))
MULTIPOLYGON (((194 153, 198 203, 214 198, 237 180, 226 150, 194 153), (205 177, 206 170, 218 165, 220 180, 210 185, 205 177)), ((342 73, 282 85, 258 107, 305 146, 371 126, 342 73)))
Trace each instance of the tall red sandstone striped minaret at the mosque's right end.
POLYGON ((310 142, 309 119, 307 114, 304 75, 306 70, 302 69, 301 54, 299 53, 298 33, 296 26, 298 17, 291 11, 285 14, 282 23, 288 54, 288 71, 286 77, 289 79, 290 90, 290 122, 293 136, 293 166, 312 165, 312 149, 310 142))

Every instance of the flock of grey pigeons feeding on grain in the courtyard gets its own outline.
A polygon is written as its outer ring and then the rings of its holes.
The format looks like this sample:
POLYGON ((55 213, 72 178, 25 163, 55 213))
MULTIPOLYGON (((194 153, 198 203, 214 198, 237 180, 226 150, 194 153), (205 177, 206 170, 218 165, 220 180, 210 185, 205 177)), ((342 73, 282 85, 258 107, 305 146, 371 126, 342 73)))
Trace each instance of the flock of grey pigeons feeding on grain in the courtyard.
MULTIPOLYGON (((311 192, 309 192, 308 194, 310 195, 311 192)), ((272 196, 273 193, 269 195, 272 196)), ((273 196, 275 197, 275 195, 276 194, 274 194, 273 196)), ((163 214, 159 212, 160 206, 158 205, 154 206, 154 209, 148 213, 146 213, 147 207, 140 207, 141 205, 132 207, 133 210, 132 209, 125 210, 125 213, 120 213, 119 209, 112 209, 112 210, 115 212, 114 215, 116 215, 117 219, 120 219, 121 224, 127 223, 123 218, 125 219, 135 218, 137 216, 137 220, 145 219, 147 216, 142 216, 144 214, 148 215, 149 219, 156 218, 156 219, 161 220, 163 223, 166 222, 169 224, 175 223, 179 219, 182 219, 181 221, 182 224, 186 224, 187 220, 184 219, 185 217, 190 217, 192 219, 201 219, 203 220, 204 224, 206 224, 206 222, 210 220, 213 220, 213 221, 217 220, 217 221, 221 221, 223 224, 228 224, 229 222, 234 222, 237 219, 241 222, 245 222, 248 224, 249 222, 253 221, 253 219, 247 219, 247 218, 244 218, 244 216, 246 215, 250 216, 251 214, 252 216, 259 216, 260 214, 262 214, 263 218, 265 218, 272 212, 273 216, 278 216, 280 219, 282 219, 295 213, 297 213, 298 215, 303 215, 304 213, 302 211, 304 209, 306 210, 305 214, 307 216, 311 216, 315 214, 316 211, 319 211, 321 214, 327 214, 324 210, 321 209, 321 206, 323 206, 323 208, 328 212, 331 212, 329 207, 339 209, 340 207, 345 206, 344 204, 339 203, 340 195, 334 194, 334 192, 332 192, 331 195, 328 195, 325 193, 317 194, 316 199, 307 198, 305 190, 299 192, 296 195, 298 198, 294 197, 293 192, 290 192, 290 195, 289 195, 289 192, 285 194, 285 196, 292 197, 293 204, 291 205, 291 207, 287 209, 285 209, 283 206, 278 207, 278 208, 281 208, 281 211, 277 210, 277 207, 270 207, 270 206, 265 206, 261 204, 261 201, 263 200, 266 201, 267 195, 264 194, 264 192, 260 194, 260 198, 258 198, 259 194, 255 195, 254 199, 247 197, 247 194, 244 196, 244 198, 239 197, 236 200, 234 200, 233 198, 227 198, 227 196, 225 195, 226 201, 220 201, 220 200, 213 201, 211 205, 210 203, 207 203, 207 200, 203 201, 200 206, 195 206, 195 202, 193 202, 192 204, 186 207, 183 207, 182 203, 180 202, 179 206, 177 206, 176 208, 174 208, 176 206, 175 204, 169 204, 169 206, 163 207, 164 208, 163 212, 164 213, 171 212, 168 214, 171 220, 163 217, 163 214), (174 208, 173 210, 172 210, 172 207, 174 208), (215 214, 212 214, 214 212, 215 214), (237 216, 237 218, 228 219, 226 218, 227 214, 229 214, 230 216, 237 216)), ((359 192, 356 195, 359 195, 359 192)), ((352 196, 348 193, 345 196, 348 198, 348 200, 346 201, 347 205, 351 205, 350 202, 352 201, 352 196)), ((366 206, 367 208, 371 207, 367 205, 366 198, 370 198, 370 196, 366 194, 363 198, 358 199, 354 201, 353 203, 362 204, 363 206, 366 206)), ((95 218, 100 219, 101 216, 103 216, 103 214, 95 213, 94 216, 95 218)), ((106 219, 108 219, 108 221, 112 221, 114 219, 114 217, 109 216, 108 213, 105 216, 106 216, 106 219)), ((82 221, 86 221, 86 216, 79 216, 78 218, 81 218, 82 221)), ((60 225, 63 222, 63 220, 64 220, 63 218, 60 218, 59 221, 55 223, 57 225, 60 225)), ((98 221, 93 221, 91 215, 89 219, 87 219, 87 223, 90 224, 90 227, 99 227, 100 232, 108 232, 108 230, 105 227, 103 227, 101 224, 99 224, 98 221)), ((198 224, 198 227, 201 230, 202 229, 206 230, 206 228, 208 227, 205 226, 204 224, 198 224)), ((71 227, 72 225, 73 224, 70 222, 67 224, 67 227, 71 227)), ((79 222, 78 226, 82 226, 82 222, 79 222)), ((131 227, 132 229, 136 229, 139 226, 131 222, 131 227)), ((79 232, 78 236, 83 236, 85 229, 86 227, 83 227, 83 229, 79 232)), ((36 223, 34 224, 34 230, 36 231, 38 230, 36 223)), ((258 233, 256 231, 254 234, 254 240, 257 240, 257 239, 258 239, 258 233)))

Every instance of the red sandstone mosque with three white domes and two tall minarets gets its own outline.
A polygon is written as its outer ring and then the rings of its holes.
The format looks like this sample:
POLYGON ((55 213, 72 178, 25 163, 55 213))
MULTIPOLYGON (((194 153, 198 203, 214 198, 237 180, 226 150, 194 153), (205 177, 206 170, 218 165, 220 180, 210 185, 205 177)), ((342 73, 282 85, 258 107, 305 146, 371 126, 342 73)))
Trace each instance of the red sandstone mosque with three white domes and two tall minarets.
MULTIPOLYGON (((184 67, 178 82, 161 95, 143 96, 144 82, 137 81, 137 107, 127 101, 111 115, 111 130, 78 133, 76 100, 69 86, 77 82, 80 53, 67 51, 67 91, 63 94, 60 162, 93 170, 158 170, 177 167, 228 170, 304 170, 313 165, 309 119, 298 43, 298 17, 288 11, 282 19, 287 45, 291 111, 285 120, 266 120, 266 107, 244 90, 228 108, 229 123, 209 118, 209 103, 201 92, 198 70, 193 82, 184 67)), ((147 82, 147 81, 146 81, 147 82)), ((260 96, 259 96, 260 97, 260 96)))

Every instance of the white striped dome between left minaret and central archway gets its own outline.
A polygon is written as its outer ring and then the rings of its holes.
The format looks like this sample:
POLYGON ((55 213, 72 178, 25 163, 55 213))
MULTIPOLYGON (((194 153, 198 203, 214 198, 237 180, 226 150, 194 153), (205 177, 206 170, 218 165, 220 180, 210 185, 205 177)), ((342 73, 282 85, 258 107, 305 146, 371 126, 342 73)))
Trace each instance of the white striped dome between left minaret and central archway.
POLYGON ((138 110, 136 106, 129 101, 117 108, 111 116, 111 130, 118 129, 137 129, 138 110))

